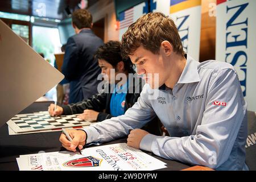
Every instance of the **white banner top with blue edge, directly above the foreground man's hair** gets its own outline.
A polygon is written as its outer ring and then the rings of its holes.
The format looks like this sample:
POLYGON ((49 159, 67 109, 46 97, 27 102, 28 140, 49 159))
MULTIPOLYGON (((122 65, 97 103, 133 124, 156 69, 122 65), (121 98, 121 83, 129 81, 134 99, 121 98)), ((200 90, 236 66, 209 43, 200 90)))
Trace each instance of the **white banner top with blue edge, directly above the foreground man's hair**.
POLYGON ((160 12, 169 15, 170 3, 171 0, 150 0, 150 12, 160 12))

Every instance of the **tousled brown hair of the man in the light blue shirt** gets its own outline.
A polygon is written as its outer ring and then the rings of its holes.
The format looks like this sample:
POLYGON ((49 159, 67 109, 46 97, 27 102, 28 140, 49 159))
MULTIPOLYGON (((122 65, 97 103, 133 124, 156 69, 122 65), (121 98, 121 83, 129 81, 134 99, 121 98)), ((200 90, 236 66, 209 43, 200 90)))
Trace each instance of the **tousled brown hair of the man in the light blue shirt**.
POLYGON ((122 56, 133 55, 139 46, 152 53, 159 53, 161 43, 167 40, 174 52, 184 55, 177 27, 172 19, 162 13, 148 13, 131 24, 122 36, 122 56))

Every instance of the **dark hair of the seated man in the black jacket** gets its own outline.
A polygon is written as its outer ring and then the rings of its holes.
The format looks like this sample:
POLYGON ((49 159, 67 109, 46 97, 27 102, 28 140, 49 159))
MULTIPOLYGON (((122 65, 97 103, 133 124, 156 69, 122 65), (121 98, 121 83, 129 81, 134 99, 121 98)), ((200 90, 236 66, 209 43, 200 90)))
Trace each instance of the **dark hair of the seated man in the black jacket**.
POLYGON ((121 56, 121 48, 120 48, 120 42, 110 40, 106 44, 100 46, 96 53, 95 58, 96 59, 103 59, 107 61, 109 64, 111 64, 114 68, 117 66, 117 63, 120 61, 123 61, 125 71, 128 73, 135 73, 134 71, 134 65, 131 63, 130 58, 123 59, 121 56))

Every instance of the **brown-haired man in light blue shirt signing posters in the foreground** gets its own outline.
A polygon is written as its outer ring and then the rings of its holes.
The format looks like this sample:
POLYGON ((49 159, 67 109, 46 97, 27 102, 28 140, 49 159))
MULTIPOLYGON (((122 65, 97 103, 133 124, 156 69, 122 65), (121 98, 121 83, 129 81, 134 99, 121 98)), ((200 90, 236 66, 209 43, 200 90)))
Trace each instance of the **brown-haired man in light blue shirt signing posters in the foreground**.
POLYGON ((137 65, 147 84, 124 115, 82 130, 70 130, 68 150, 128 135, 127 145, 166 159, 217 170, 246 170, 246 102, 237 73, 228 63, 199 63, 185 54, 174 22, 149 13, 122 37, 123 55, 137 65), (147 38, 147 39, 146 39, 147 38), (157 82, 155 82, 157 80, 157 82), (141 130, 157 115, 170 137, 141 130))

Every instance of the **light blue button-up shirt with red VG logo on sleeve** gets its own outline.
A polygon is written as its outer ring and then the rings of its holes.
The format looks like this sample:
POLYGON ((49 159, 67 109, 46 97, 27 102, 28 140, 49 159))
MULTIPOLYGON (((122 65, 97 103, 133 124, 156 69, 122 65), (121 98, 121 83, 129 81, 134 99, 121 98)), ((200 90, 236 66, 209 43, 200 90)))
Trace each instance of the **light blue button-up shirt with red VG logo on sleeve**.
POLYGON ((172 90, 146 84, 125 115, 84 130, 87 143, 106 142, 141 128, 157 115, 170 137, 147 134, 140 143, 142 150, 217 170, 246 170, 246 109, 232 65, 214 60, 199 63, 187 56, 172 90))

